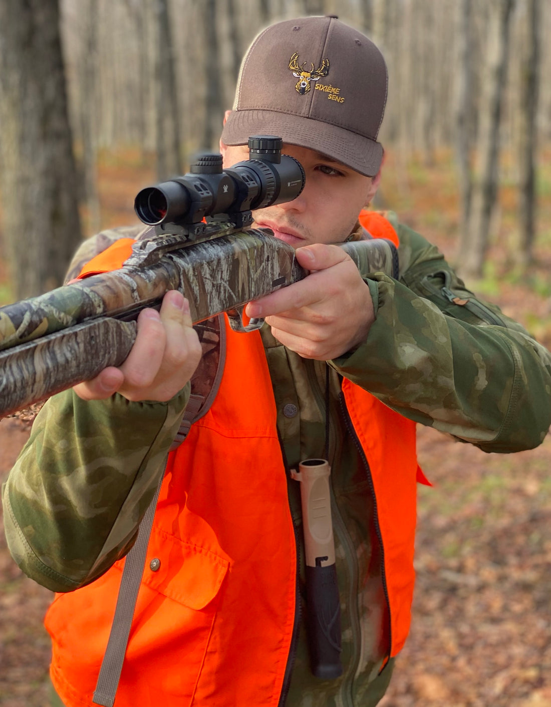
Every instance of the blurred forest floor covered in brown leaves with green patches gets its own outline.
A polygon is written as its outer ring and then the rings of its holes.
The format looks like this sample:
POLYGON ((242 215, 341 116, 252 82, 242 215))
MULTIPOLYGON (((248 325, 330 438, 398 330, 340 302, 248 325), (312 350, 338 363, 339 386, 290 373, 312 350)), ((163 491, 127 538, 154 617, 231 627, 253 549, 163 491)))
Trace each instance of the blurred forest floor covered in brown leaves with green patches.
MULTIPOLYGON (((430 167, 413 160, 407 170, 396 162, 390 151, 381 206, 456 262, 449 156, 430 167)), ((134 194, 151 179, 135 154, 104 158, 103 225, 134 223, 134 194)), ((505 181, 475 288, 551 346, 551 169, 538 188, 537 264, 528 276, 516 269, 515 188, 505 181)), ((0 259, 0 303, 9 298, 0 259)), ((0 421, 0 482, 27 438, 20 421, 0 421)), ((434 486, 419 489, 412 629, 381 707, 551 707, 551 436, 536 450, 487 455, 422 428, 418 445, 434 486)), ((42 618, 51 598, 20 573, 0 532, 1 707, 49 704, 42 618)))

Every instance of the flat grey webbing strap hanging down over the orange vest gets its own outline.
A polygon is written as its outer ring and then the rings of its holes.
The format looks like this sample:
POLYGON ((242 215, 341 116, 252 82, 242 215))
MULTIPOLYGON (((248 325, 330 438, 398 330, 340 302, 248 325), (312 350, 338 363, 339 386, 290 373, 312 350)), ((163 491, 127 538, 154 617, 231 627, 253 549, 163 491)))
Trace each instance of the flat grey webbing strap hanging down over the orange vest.
MULTIPOLYGON (((166 460, 162 468, 165 469, 165 466, 166 460)), ((107 641, 107 648, 105 649, 92 700, 94 704, 102 705, 103 707, 113 707, 115 695, 117 694, 124 655, 126 654, 126 645, 128 644, 134 609, 138 599, 138 590, 146 563, 146 553, 162 485, 162 476, 161 474, 153 501, 149 504, 146 515, 143 516, 143 520, 140 523, 134 547, 126 555, 126 561, 124 562, 124 571, 111 632, 109 633, 109 641, 107 641)))

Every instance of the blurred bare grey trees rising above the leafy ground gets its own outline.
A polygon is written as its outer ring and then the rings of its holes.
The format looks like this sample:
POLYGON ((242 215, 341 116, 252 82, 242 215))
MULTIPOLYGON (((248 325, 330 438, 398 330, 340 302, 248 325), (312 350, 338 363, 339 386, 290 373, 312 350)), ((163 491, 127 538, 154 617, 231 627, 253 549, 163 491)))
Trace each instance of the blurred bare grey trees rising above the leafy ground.
POLYGON ((545 0, 1 0, 1 252, 13 298, 57 286, 78 241, 106 225, 102 156, 131 148, 158 177, 182 173, 191 153, 216 147, 254 35, 274 18, 324 13, 385 54, 380 139, 402 192, 412 156, 428 167, 442 150, 454 156, 462 273, 484 271, 500 179, 518 199, 511 259, 531 264, 536 155, 551 137, 545 0))

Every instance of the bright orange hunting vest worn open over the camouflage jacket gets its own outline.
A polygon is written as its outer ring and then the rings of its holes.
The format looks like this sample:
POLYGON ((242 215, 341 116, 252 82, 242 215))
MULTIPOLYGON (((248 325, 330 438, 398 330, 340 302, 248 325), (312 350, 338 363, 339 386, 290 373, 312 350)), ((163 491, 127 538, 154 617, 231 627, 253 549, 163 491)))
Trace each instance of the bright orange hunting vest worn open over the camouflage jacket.
MULTIPOLYGON (((121 264, 99 257, 105 269, 121 264)), ((261 336, 226 330, 218 395, 169 455, 117 707, 280 700, 295 618, 295 533, 261 336)), ((343 393, 371 470, 396 655, 413 598, 415 423, 346 379, 343 393)), ((123 566, 57 595, 47 612, 52 681, 67 707, 92 706, 123 566)))

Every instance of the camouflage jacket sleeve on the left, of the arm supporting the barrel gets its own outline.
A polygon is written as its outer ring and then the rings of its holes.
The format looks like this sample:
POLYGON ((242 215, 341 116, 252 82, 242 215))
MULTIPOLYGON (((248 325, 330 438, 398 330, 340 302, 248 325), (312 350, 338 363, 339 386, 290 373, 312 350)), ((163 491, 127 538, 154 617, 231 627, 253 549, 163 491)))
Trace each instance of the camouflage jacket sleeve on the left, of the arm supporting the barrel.
POLYGON ((134 544, 189 399, 50 398, 2 489, 6 539, 30 578, 56 592, 97 579, 134 544))

